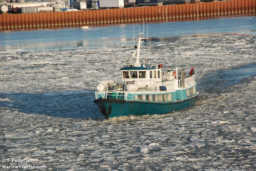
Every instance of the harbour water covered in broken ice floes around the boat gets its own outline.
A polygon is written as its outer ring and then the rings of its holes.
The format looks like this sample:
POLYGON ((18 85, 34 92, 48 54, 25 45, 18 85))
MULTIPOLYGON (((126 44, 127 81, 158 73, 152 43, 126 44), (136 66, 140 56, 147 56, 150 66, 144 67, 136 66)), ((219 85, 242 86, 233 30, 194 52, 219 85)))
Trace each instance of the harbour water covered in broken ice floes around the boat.
POLYGON ((108 121, 94 90, 121 78, 132 25, 1 32, 0 168, 2 158, 21 158, 47 170, 256 170, 255 21, 149 24, 158 31, 142 57, 164 69, 193 66, 198 101, 108 121))

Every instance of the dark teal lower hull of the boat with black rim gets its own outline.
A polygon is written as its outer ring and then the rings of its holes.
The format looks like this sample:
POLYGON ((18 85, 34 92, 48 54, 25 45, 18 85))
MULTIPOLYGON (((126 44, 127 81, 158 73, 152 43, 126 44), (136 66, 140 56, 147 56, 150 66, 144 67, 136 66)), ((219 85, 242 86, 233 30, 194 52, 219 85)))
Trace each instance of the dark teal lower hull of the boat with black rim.
POLYGON ((199 92, 188 99, 178 100, 170 103, 131 101, 120 99, 96 99, 94 103, 99 106, 101 113, 108 118, 129 115, 152 115, 165 114, 180 111, 194 105, 199 92))

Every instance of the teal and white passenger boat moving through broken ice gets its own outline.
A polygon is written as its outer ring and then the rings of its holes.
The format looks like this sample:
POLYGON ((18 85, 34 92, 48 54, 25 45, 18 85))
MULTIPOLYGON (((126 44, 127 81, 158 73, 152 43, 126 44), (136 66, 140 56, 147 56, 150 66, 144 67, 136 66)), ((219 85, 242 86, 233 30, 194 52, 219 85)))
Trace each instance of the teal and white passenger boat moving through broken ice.
MULTIPOLYGON (((144 29, 143 29, 144 30, 144 29)), ((195 104, 199 95, 195 74, 185 69, 163 69, 163 64, 149 66, 147 59, 140 62, 140 44, 147 37, 139 33, 135 39, 137 50, 120 69, 121 81, 102 80, 95 91, 94 103, 108 118, 129 115, 153 115, 180 111, 195 104), (132 59, 131 58, 131 59, 132 59)))

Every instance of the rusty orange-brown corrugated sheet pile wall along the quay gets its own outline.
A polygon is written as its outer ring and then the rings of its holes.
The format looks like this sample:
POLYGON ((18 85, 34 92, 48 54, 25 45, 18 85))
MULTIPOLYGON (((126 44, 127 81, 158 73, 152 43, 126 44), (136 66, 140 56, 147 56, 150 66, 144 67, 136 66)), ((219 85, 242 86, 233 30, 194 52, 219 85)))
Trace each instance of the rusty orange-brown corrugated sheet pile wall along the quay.
POLYGON ((60 26, 120 24, 141 21, 220 16, 255 12, 256 0, 230 0, 195 4, 147 6, 74 12, 42 12, 0 15, 0 30, 60 26))

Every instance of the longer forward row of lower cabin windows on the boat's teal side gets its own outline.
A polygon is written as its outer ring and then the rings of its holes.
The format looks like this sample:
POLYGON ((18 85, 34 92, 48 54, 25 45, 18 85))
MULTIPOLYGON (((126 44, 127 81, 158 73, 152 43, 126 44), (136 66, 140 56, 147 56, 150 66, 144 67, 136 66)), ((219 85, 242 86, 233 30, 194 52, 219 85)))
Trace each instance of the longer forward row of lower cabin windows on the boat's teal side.
POLYGON ((146 101, 154 101, 154 102, 166 102, 166 101, 172 101, 172 94, 140 94, 140 95, 134 95, 133 97, 134 100, 146 100, 146 101))

